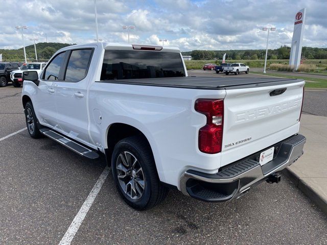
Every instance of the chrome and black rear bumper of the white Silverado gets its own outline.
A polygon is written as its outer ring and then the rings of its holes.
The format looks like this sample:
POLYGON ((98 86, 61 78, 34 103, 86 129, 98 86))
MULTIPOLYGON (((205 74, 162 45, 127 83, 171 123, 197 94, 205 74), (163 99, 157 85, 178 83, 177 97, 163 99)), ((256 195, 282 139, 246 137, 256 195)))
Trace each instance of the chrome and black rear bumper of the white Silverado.
POLYGON ((302 156, 305 142, 306 137, 297 134, 269 146, 275 147, 274 158, 263 166, 257 160, 258 155, 260 156, 266 149, 229 164, 216 174, 186 170, 180 179, 181 191, 185 195, 206 202, 223 202, 238 198, 252 185, 260 183, 295 162, 302 156))

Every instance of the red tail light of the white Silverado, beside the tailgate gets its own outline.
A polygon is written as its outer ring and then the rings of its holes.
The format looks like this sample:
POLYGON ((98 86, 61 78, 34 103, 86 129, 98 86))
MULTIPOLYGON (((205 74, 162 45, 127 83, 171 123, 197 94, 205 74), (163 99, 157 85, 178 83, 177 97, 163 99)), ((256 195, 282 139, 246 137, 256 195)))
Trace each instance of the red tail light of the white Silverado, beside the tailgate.
POLYGON ((198 99, 194 108, 206 116, 206 125, 199 130, 199 150, 208 154, 221 152, 224 100, 198 99))

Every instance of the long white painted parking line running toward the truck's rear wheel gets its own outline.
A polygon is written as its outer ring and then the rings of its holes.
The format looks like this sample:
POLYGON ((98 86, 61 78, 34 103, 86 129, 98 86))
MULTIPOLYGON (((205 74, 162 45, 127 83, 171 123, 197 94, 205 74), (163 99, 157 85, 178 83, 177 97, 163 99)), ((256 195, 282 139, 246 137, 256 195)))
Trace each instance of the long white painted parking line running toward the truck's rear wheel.
POLYGON ((69 226, 68 230, 66 231, 65 235, 62 237, 59 245, 69 245, 71 244, 76 232, 80 228, 88 210, 90 209, 92 203, 96 199, 103 183, 105 182, 108 174, 110 172, 110 168, 108 166, 105 167, 102 174, 100 175, 97 183, 92 188, 91 192, 88 194, 87 199, 83 203, 80 211, 76 214, 71 226, 69 226))

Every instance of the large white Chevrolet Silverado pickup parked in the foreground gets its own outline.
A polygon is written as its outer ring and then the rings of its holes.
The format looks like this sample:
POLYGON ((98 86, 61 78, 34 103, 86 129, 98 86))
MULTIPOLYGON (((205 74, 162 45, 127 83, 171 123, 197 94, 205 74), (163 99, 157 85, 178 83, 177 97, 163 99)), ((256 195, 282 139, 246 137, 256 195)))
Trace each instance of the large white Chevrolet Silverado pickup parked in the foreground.
POLYGON ((138 210, 169 188, 222 202, 279 182, 306 142, 298 134, 305 81, 188 77, 178 48, 73 45, 23 79, 31 137, 91 159, 105 154, 119 193, 138 210))

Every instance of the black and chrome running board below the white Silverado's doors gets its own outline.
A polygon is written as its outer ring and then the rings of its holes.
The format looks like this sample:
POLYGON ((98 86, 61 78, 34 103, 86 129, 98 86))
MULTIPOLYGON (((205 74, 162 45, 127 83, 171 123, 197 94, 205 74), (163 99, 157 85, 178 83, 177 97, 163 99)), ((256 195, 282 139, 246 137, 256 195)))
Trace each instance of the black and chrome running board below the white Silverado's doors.
POLYGON ((64 137, 63 135, 49 129, 49 128, 42 128, 40 129, 40 132, 57 141, 58 143, 62 144, 63 146, 66 146, 66 148, 72 150, 73 152, 83 156, 83 157, 87 157, 89 159, 96 159, 99 158, 99 154, 96 153, 94 150, 90 150, 88 148, 86 148, 85 146, 73 141, 72 139, 68 139, 66 137, 64 137))

